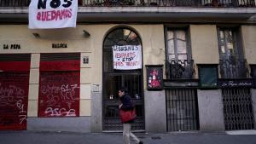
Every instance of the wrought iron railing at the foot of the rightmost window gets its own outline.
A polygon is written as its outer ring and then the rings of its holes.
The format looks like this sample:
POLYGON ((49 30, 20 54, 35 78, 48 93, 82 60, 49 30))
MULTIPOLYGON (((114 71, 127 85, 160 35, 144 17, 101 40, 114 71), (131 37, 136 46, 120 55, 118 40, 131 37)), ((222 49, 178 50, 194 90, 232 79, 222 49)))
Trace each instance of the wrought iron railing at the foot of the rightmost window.
POLYGON ((247 78, 248 68, 245 59, 219 60, 221 78, 247 78))

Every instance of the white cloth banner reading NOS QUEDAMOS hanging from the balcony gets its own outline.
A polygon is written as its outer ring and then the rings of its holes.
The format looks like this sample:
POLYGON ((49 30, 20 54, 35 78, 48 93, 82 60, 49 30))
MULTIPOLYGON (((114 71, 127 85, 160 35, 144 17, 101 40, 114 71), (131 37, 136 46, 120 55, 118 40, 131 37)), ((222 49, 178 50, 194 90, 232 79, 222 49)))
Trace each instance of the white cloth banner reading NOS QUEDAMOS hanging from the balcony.
POLYGON ((29 28, 76 27, 78 0, 32 0, 29 5, 29 28))

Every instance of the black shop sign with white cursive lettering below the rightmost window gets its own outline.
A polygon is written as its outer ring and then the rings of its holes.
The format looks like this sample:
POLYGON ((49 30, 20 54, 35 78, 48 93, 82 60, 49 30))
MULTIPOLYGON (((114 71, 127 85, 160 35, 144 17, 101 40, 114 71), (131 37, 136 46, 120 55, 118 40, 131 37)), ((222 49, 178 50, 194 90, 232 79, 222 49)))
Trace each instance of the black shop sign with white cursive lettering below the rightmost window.
POLYGON ((218 86, 220 88, 253 87, 253 79, 219 79, 218 86))

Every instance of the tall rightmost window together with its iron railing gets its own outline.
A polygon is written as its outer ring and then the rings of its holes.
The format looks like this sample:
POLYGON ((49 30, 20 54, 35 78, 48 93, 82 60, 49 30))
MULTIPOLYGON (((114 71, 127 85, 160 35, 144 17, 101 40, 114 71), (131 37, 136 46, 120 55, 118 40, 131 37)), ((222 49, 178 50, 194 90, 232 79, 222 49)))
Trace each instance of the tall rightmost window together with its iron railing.
POLYGON ((218 28, 218 52, 221 78, 247 78, 239 28, 218 28))

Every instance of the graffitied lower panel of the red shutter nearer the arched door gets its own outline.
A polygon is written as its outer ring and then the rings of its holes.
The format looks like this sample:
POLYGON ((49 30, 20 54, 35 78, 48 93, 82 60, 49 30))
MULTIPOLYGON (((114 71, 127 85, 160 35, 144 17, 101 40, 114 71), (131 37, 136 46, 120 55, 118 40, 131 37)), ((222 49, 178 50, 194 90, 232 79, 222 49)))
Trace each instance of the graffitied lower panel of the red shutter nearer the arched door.
POLYGON ((41 72, 39 117, 79 116, 79 72, 41 72))

